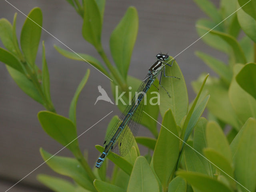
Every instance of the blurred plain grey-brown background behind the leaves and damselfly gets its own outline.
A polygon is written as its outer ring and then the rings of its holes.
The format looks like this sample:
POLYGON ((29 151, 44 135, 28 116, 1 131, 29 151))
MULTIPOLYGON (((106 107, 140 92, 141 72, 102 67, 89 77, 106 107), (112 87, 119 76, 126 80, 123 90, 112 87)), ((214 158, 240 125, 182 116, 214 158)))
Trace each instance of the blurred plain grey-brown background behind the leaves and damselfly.
MULTIPOLYGON (((90 54, 102 61, 93 46, 82 38, 82 18, 65 0, 8 0, 25 14, 33 7, 40 7, 43 12, 43 27, 56 36, 64 44, 76 52, 90 54)), ((212 0, 218 6, 218 0, 212 0)), ((198 39, 195 29, 197 19, 206 17, 192 0, 108 0, 104 14, 102 32, 103 47, 110 57, 109 37, 118 24, 126 9, 135 6, 139 15, 139 31, 132 54, 129 74, 142 79, 148 68, 156 60, 160 51, 169 52, 175 56, 198 39), (138 67, 140 70, 138 70, 138 67)), ((7 18, 12 22, 14 13, 18 12, 10 4, 1 0, 0 18, 7 18)), ((18 39, 25 16, 18 12, 17 34, 18 39)), ((84 132, 110 111, 114 112, 99 122, 90 131, 79 138, 82 150, 88 150, 89 163, 94 166, 98 156, 94 148, 102 144, 106 125, 118 109, 104 101, 95 106, 98 85, 101 85, 110 95, 110 82, 97 70, 85 62, 64 58, 54 49, 57 44, 64 48, 52 36, 42 31, 41 40, 45 41, 46 59, 50 72, 51 95, 54 106, 59 114, 68 116, 68 108, 72 96, 86 69, 91 73, 88 82, 82 91, 77 106, 78 134, 84 132)), ((0 46, 2 44, 0 43, 0 46)), ((190 101, 194 98, 192 80, 198 78, 201 72, 213 72, 194 55, 194 51, 204 52, 226 59, 225 56, 206 46, 201 40, 188 50, 180 54, 178 62, 189 92, 190 101)), ((38 50, 37 64, 41 66, 42 41, 38 50)), ((103 62, 102 62, 103 63, 103 62)), ((41 128, 37 113, 44 108, 24 94, 9 76, 4 64, 0 64, 0 190, 5 191, 15 182, 26 176, 40 165, 43 160, 39 148, 43 147, 52 154, 62 146, 50 138, 41 128)), ((141 128, 138 135, 150 133, 141 128)), ((72 156, 64 149, 59 155, 72 156)), ((56 175, 46 164, 42 165, 10 192, 48 191, 36 180, 39 173, 56 175)))

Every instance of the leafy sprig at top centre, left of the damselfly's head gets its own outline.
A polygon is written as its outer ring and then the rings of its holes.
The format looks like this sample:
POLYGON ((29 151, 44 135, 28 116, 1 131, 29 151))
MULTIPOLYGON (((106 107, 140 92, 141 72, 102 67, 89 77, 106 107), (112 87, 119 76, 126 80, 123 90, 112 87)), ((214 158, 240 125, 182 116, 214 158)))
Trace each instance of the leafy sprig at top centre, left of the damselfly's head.
MULTIPOLYGON (((67 1, 73 7, 79 7, 77 6, 79 4, 78 1, 67 1)), ((109 72, 101 64, 101 62, 92 56, 82 53, 76 54, 74 52, 69 52, 58 46, 55 46, 56 50, 67 58, 87 61, 108 78, 113 80, 115 84, 118 84, 122 88, 122 91, 127 91, 127 72, 138 33, 138 13, 136 8, 128 8, 122 20, 119 22, 110 36, 110 51, 116 64, 116 66, 113 66, 108 60, 108 57, 106 56, 101 44, 105 0, 83 0, 82 2, 82 6, 80 5, 80 7, 83 8, 82 35, 86 41, 96 48, 104 60, 109 72)))

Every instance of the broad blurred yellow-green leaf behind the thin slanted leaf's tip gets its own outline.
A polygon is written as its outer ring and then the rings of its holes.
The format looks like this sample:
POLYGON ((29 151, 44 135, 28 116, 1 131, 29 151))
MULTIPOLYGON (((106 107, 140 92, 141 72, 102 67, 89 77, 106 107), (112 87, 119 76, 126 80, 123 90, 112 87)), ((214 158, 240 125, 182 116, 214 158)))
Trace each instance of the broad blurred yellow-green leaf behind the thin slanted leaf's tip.
MULTIPOLYGON (((195 92, 198 92, 204 76, 202 74, 198 80, 192 82, 195 92)), ((218 119, 239 130, 240 123, 228 98, 228 89, 226 86, 218 78, 210 77, 208 83, 205 85, 204 91, 210 94, 210 100, 207 105, 208 110, 218 119)))

